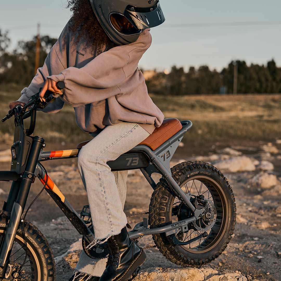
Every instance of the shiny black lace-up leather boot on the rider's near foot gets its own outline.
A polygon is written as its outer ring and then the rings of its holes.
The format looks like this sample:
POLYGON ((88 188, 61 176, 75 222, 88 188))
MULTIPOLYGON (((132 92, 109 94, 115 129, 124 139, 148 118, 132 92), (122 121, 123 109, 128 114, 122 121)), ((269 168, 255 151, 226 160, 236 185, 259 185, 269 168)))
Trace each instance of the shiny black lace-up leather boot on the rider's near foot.
POLYGON ((136 277, 146 254, 128 235, 126 227, 108 239, 110 254, 99 281, 128 281, 136 277))

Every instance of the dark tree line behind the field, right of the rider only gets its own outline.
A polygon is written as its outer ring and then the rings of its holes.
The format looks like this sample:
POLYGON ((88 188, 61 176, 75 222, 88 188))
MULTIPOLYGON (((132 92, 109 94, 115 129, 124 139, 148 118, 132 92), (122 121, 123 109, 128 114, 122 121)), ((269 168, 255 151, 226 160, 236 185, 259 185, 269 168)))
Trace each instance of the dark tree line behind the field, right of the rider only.
POLYGON ((198 69, 173 66, 168 74, 155 71, 146 79, 148 90, 155 94, 232 94, 234 88, 234 64, 238 65, 237 92, 281 93, 281 67, 272 59, 266 65, 247 65, 243 60, 232 61, 221 72, 207 65, 198 69))

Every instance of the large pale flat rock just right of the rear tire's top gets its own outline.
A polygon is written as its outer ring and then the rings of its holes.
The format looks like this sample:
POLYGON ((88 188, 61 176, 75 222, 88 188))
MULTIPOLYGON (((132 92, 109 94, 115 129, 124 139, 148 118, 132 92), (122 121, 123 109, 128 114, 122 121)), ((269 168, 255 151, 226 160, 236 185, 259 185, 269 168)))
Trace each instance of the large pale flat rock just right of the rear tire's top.
POLYGON ((214 163, 219 170, 223 172, 239 172, 239 171, 255 171, 256 167, 253 164, 251 158, 247 156, 239 156, 230 158, 228 160, 223 160, 214 163))

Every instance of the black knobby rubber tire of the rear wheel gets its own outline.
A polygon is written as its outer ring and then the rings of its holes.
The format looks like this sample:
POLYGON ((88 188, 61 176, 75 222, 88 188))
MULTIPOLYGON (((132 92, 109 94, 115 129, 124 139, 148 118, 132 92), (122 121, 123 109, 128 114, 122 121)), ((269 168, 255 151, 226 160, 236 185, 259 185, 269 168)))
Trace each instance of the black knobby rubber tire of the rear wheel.
MULTIPOLYGON (((210 178, 212 181, 216 181, 226 198, 227 207, 227 223, 225 224, 225 231, 221 235, 219 242, 205 253, 189 252, 184 250, 181 246, 175 246, 171 239, 166 234, 153 235, 153 240, 159 249, 159 251, 176 265, 179 266, 192 266, 200 267, 205 264, 212 262, 216 259, 226 248, 230 242, 231 236, 234 232, 235 221, 236 221, 236 203, 234 194, 230 184, 228 183, 225 176, 214 166, 201 162, 201 161, 187 161, 177 164, 171 168, 172 176, 177 183, 181 185, 185 179, 192 179, 193 176, 210 178)), ((156 190, 151 196, 149 205, 149 224, 150 228, 156 228, 160 226, 169 225, 171 221, 171 209, 175 200, 175 196, 169 191, 169 187, 164 178, 160 179, 157 184, 156 190)))

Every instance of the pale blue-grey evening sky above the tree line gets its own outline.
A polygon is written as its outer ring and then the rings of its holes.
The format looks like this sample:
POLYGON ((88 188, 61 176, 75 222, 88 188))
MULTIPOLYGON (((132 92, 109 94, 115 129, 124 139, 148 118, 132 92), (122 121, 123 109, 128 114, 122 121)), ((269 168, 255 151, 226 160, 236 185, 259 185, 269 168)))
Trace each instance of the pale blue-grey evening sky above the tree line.
MULTIPOLYGON (((10 31, 13 47, 36 34, 37 22, 42 35, 58 37, 71 15, 66 4, 67 0, 3 1, 0 28, 10 31)), ((187 70, 209 65, 221 70, 231 60, 266 64, 272 58, 281 65, 280 0, 160 0, 160 4, 166 22, 151 29, 153 43, 140 67, 164 70, 177 65, 187 70)))

